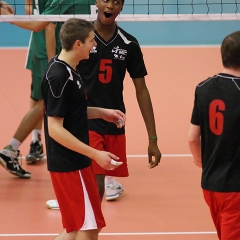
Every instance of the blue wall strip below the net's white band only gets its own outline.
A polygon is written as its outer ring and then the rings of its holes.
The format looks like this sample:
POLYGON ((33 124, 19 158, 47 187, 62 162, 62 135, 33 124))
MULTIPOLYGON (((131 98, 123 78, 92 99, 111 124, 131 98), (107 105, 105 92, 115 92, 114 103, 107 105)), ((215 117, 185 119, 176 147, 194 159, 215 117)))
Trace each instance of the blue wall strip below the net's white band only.
MULTIPOLYGON (((239 21, 120 22, 141 45, 219 45, 223 38, 240 30, 239 21)), ((26 47, 30 31, 0 23, 0 47, 26 47)))

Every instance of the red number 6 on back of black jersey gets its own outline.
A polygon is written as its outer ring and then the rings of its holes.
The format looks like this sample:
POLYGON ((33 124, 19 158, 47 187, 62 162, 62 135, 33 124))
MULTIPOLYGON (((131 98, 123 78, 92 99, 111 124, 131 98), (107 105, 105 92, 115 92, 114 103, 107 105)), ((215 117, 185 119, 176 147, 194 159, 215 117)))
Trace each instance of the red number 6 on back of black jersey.
POLYGON ((224 116, 220 111, 225 111, 225 103, 219 99, 212 101, 209 105, 209 127, 216 135, 223 131, 224 116))

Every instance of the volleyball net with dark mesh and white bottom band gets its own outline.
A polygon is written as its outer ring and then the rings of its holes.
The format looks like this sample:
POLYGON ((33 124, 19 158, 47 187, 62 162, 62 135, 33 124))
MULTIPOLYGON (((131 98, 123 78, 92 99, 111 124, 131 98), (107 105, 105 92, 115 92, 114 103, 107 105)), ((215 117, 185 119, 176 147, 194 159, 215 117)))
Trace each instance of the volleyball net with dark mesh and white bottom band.
MULTIPOLYGON (((71 17, 96 19, 97 9, 91 0, 58 0, 69 5, 89 5, 90 14, 26 15, 24 0, 8 0, 14 15, 0 15, 0 22, 9 21, 65 21, 71 17), (79 2, 79 3, 78 3, 79 2)), ((39 0, 38 0, 39 2, 39 0)), ((56 1, 55 1, 56 2, 56 1)), ((77 9, 77 8, 76 8, 77 9)), ((117 21, 218 21, 239 20, 240 0, 125 0, 124 8, 117 21)))

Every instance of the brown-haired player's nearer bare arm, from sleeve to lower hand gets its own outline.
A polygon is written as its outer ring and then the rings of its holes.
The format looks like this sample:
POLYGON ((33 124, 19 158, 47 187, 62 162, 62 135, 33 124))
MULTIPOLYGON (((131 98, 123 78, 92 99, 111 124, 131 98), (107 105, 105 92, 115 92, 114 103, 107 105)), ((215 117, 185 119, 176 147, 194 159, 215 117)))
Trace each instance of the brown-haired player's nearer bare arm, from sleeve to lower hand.
POLYGON ((62 146, 94 159, 101 167, 113 170, 117 166, 111 164, 111 159, 119 158, 112 153, 96 150, 79 141, 63 127, 63 118, 48 117, 49 136, 62 146))

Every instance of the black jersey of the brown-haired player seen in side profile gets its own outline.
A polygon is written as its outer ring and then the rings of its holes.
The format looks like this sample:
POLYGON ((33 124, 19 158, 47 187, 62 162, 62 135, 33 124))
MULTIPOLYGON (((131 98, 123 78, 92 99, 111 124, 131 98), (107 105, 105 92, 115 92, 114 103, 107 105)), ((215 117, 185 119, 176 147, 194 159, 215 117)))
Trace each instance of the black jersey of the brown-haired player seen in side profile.
POLYGON ((81 76, 57 57, 52 58, 43 79, 42 93, 48 170, 68 172, 90 166, 91 159, 65 148, 48 133, 48 116, 64 118, 63 127, 89 144, 86 91, 81 76))

